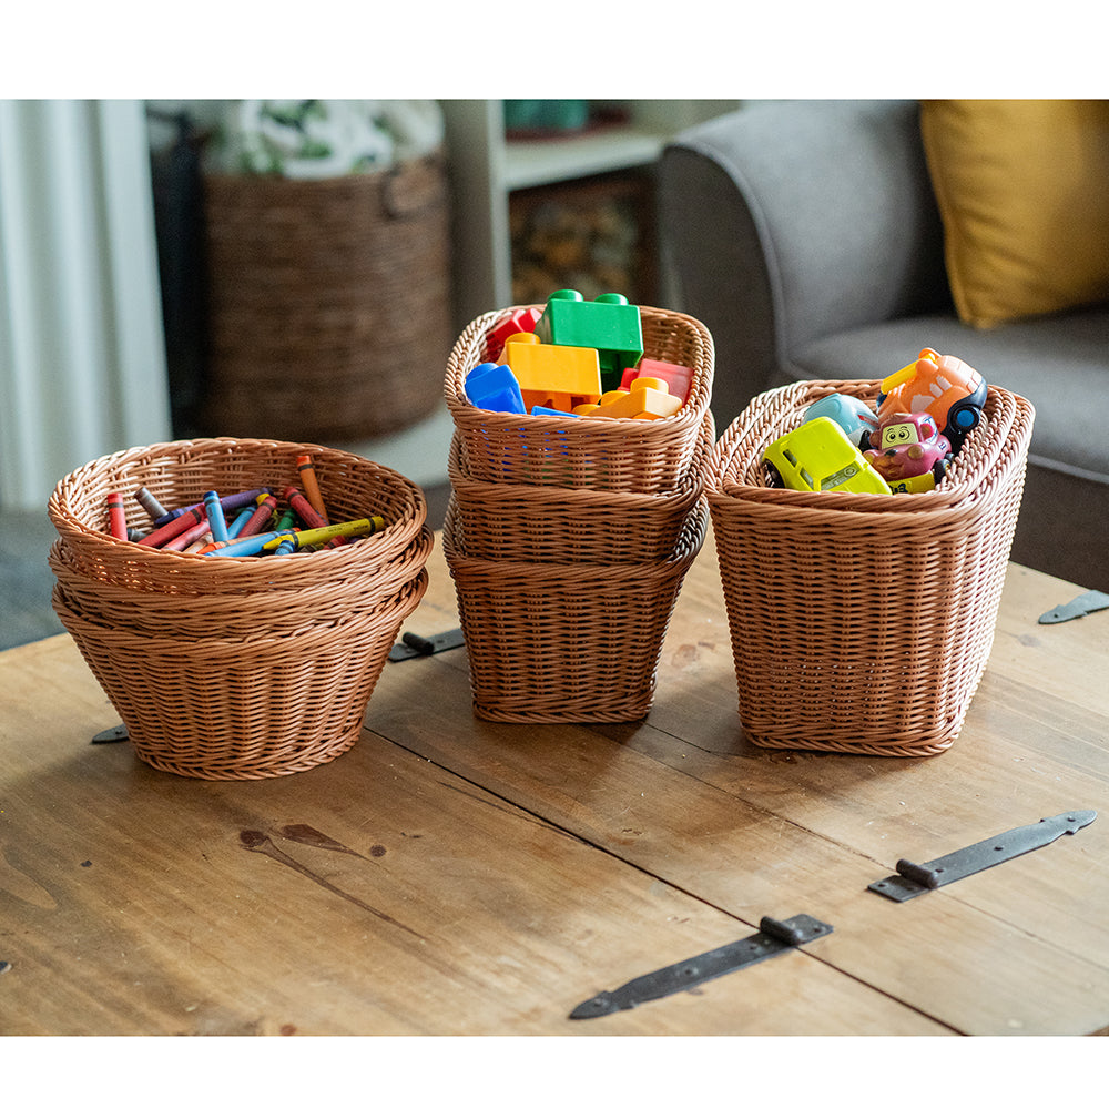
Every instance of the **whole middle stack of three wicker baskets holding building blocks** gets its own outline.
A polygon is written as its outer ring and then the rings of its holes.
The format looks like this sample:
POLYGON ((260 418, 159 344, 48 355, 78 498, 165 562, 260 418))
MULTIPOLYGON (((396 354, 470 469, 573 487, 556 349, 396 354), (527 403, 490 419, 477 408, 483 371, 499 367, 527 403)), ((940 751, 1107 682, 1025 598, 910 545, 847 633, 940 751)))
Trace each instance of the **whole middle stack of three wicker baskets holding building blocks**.
POLYGON ((466 398, 496 357, 490 333, 519 308, 475 319, 444 385, 455 424, 444 553, 487 720, 638 720, 682 581, 709 522, 714 439, 706 328, 640 308, 644 357, 688 366, 685 405, 659 420, 517 416, 466 398))

